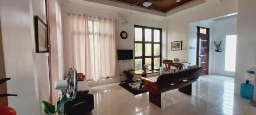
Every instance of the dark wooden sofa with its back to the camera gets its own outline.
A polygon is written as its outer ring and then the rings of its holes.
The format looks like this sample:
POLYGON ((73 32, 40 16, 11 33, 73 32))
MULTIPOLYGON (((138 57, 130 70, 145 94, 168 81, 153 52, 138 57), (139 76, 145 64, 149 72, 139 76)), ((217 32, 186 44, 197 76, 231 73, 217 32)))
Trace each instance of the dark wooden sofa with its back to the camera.
POLYGON ((198 67, 186 71, 160 75, 152 78, 140 78, 144 82, 144 88, 150 94, 150 102, 161 108, 161 93, 179 88, 179 91, 191 95, 191 83, 197 81, 203 68, 198 67))

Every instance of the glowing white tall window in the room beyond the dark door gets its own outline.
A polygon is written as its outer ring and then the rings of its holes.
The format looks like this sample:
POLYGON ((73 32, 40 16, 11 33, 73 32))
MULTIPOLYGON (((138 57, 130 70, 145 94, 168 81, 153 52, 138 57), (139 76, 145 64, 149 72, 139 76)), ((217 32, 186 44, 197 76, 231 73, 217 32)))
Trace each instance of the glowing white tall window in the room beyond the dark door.
POLYGON ((235 72, 237 53, 237 35, 226 36, 225 71, 235 72))

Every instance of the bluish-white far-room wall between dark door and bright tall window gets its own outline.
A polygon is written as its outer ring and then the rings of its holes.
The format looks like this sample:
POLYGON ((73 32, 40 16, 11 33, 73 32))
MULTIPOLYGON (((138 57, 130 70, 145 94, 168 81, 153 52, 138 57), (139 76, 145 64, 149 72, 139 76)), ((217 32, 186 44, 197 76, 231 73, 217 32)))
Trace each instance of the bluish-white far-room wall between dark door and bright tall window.
POLYGON ((215 21, 212 25, 211 39, 211 74, 234 77, 234 72, 225 71, 225 47, 226 36, 237 34, 237 18, 231 18, 221 21, 215 21), (214 41, 221 43, 222 52, 215 52, 216 46, 214 41))

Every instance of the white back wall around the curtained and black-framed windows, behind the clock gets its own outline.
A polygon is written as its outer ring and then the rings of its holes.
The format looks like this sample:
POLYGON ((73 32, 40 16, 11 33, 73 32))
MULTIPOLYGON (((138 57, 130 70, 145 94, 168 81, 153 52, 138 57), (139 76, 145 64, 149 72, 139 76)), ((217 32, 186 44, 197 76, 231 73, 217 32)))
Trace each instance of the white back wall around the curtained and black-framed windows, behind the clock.
MULTIPOLYGON (((117 49, 118 50, 134 50, 134 25, 140 25, 140 26, 148 26, 148 27, 156 27, 156 28, 163 28, 163 21, 159 20, 150 20, 143 18, 143 15, 141 16, 134 16, 133 14, 126 13, 126 12, 119 12, 123 13, 125 16, 128 17, 128 24, 121 24, 121 18, 118 17, 117 12, 108 12, 98 9, 86 9, 78 6, 72 6, 72 5, 65 5, 62 4, 61 6, 62 10, 62 27, 63 27, 63 54, 64 54, 64 70, 65 72, 70 67, 70 38, 66 37, 69 36, 70 32, 68 31, 67 27, 68 25, 68 15, 65 14, 65 12, 71 12, 71 13, 80 13, 80 14, 87 14, 92 16, 99 16, 99 17, 105 17, 105 18, 115 18, 116 21, 116 39, 117 39, 117 49), (120 32, 126 31, 128 34, 127 39, 123 40, 120 38, 120 32)), ((120 8, 116 8, 116 10, 120 10, 120 8)), ((164 31, 164 29, 163 29, 164 31)), ((164 51, 163 51, 164 52, 164 51)), ((134 67, 134 60, 130 60, 132 69, 135 69, 134 67)), ((130 70, 130 64, 129 62, 123 62, 118 61, 118 68, 119 73, 121 74, 124 70, 130 70)), ((122 80, 125 80, 126 78, 124 76, 121 77, 122 80)), ((102 85, 106 83, 113 83, 113 82, 120 82, 119 76, 116 76, 113 79, 106 79, 106 80, 100 80, 100 81, 92 81, 89 82, 90 86, 95 85, 102 85)))

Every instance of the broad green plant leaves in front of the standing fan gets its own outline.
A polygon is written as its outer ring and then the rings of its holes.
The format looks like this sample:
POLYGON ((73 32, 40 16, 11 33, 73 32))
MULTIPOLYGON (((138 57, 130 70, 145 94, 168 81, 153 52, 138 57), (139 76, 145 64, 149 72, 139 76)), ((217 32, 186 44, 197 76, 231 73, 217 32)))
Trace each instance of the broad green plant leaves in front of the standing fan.
POLYGON ((42 107, 44 107, 46 114, 62 115, 63 114, 63 113, 61 113, 62 107, 68 101, 69 100, 67 100, 66 96, 63 96, 61 98, 61 100, 57 102, 57 108, 54 105, 52 105, 51 103, 46 102, 46 101, 42 101, 42 107))

